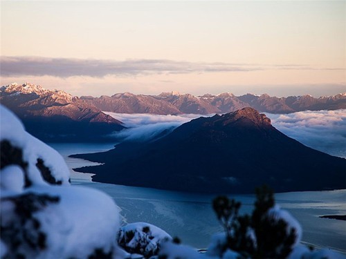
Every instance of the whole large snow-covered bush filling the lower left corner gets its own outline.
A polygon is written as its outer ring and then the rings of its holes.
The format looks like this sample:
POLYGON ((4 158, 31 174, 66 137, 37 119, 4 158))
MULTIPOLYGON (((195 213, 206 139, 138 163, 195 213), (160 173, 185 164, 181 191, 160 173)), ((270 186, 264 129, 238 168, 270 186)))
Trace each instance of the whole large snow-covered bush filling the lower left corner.
POLYGON ((113 200, 71 186, 61 155, 7 108, 0 115, 1 258, 124 258, 113 200))

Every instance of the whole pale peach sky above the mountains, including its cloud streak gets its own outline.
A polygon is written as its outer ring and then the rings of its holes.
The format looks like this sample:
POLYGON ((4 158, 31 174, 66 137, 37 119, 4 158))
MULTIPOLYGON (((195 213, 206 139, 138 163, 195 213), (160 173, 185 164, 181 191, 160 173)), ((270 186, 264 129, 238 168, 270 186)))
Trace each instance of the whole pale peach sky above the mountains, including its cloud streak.
POLYGON ((1 85, 346 92, 346 1, 1 1, 1 85))

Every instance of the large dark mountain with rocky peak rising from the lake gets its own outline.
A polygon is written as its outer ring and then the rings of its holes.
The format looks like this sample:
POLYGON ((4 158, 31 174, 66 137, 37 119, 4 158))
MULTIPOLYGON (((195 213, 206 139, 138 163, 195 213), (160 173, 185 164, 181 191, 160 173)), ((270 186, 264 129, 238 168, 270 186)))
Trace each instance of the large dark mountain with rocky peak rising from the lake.
POLYGON ((346 160, 313 150, 277 131, 253 108, 199 117, 154 142, 123 142, 96 154, 105 163, 78 169, 93 180, 202 193, 345 189, 346 160))

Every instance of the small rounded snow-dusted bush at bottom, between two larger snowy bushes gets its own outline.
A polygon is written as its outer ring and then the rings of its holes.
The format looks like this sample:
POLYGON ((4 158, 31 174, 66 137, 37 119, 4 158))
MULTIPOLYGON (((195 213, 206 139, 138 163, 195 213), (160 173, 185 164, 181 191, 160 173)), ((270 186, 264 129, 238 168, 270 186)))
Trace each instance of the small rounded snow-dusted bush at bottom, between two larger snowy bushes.
POLYGON ((127 224, 120 228, 118 244, 129 253, 137 253, 145 258, 156 256, 163 241, 172 240, 162 229, 145 222, 127 224))

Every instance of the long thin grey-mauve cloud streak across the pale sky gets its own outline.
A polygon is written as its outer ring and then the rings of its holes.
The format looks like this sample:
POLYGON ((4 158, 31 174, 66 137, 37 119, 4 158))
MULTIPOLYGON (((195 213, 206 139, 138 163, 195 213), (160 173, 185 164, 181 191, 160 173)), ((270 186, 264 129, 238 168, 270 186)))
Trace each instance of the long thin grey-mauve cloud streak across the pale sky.
MULTIPOLYGON (((134 76, 151 74, 186 74, 279 70, 315 70, 297 64, 230 64, 221 62, 188 62, 168 59, 129 59, 125 61, 104 59, 67 59, 48 57, 1 57, 1 75, 13 76, 53 76, 53 77, 105 77, 107 75, 134 76)), ((341 68, 324 68, 336 69, 341 68)))

